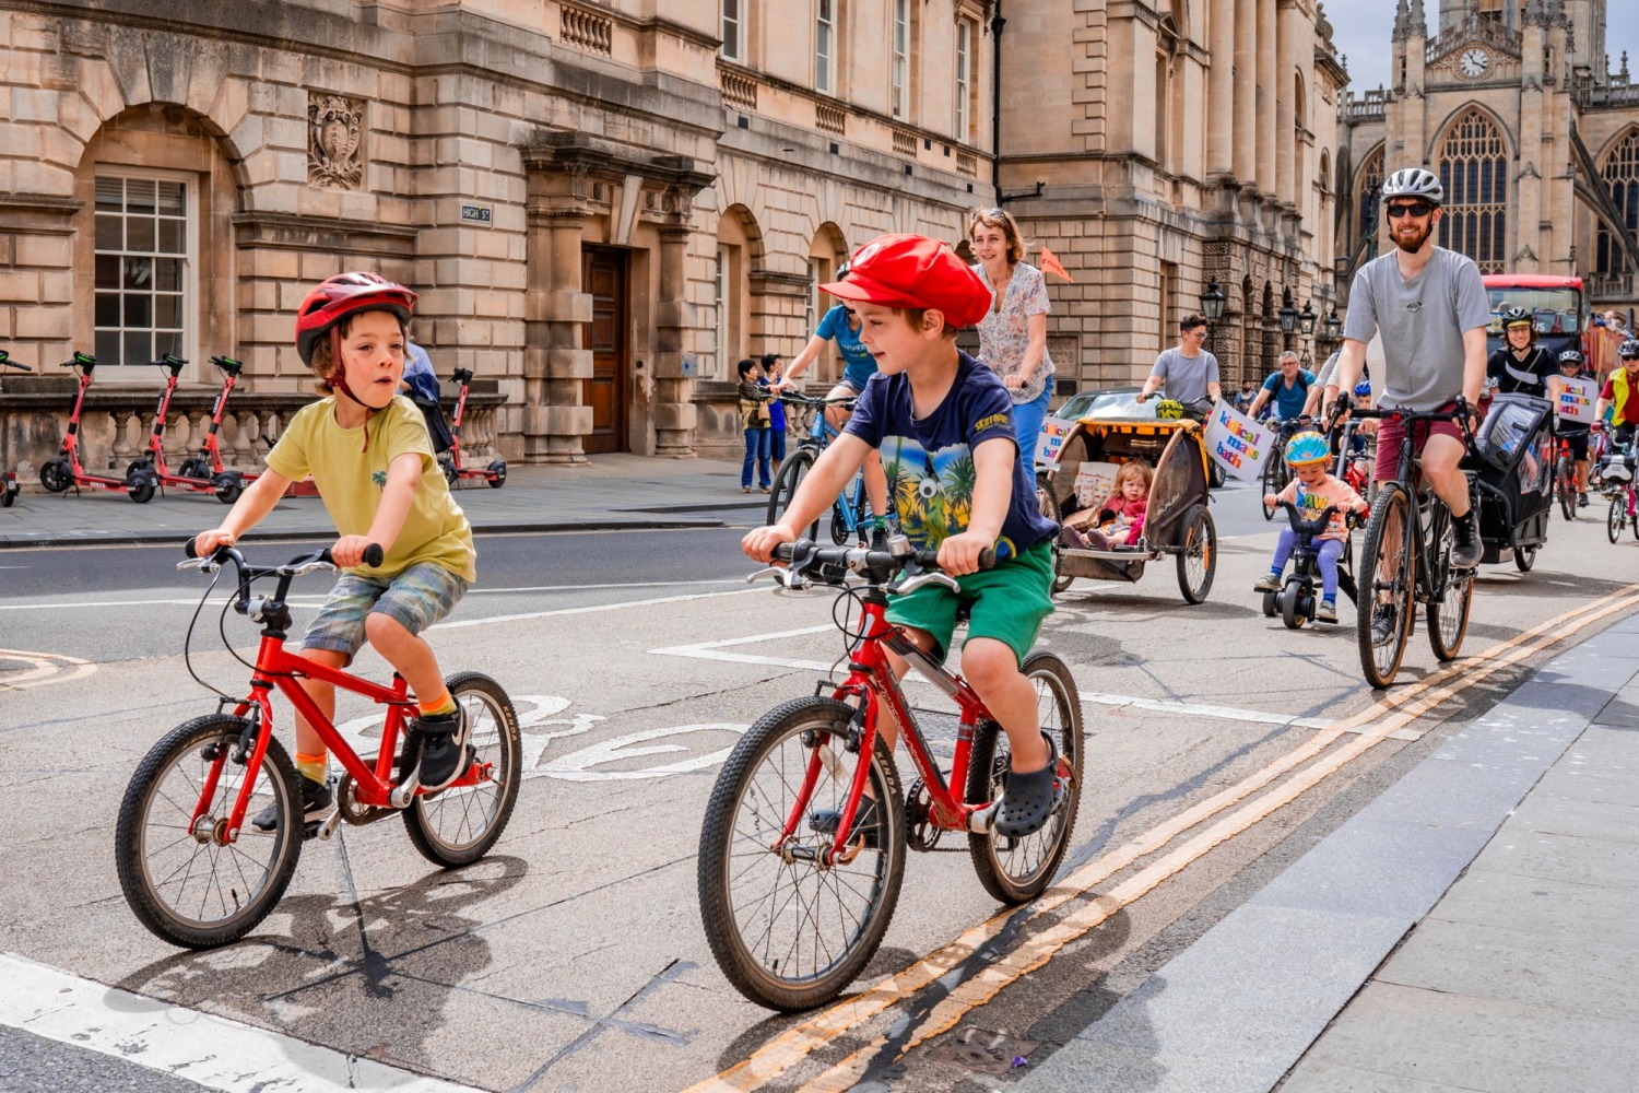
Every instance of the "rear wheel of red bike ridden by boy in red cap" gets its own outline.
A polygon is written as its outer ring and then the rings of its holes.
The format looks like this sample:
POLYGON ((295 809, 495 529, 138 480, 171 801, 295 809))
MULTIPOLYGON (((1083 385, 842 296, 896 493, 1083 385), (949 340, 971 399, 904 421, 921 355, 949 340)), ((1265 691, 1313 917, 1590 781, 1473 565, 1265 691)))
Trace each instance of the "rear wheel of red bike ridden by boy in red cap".
MULTIPOLYGON (((1070 849, 1075 832, 1075 816, 1082 805, 1082 772, 1085 769, 1082 741, 1082 698, 1075 690, 1070 667, 1044 649, 1033 649, 1019 669, 1036 688, 1036 718, 1054 734, 1059 759, 1067 762, 1069 785, 1064 800, 1047 819, 1047 826, 1023 839, 1008 839, 995 831, 969 832, 967 852, 974 859, 974 872, 998 903, 1028 903, 1047 885, 1070 849)), ((978 805, 993 801, 1001 788, 1001 775, 1010 767, 1008 734, 995 721, 980 721, 974 731, 974 752, 967 767, 967 801, 978 805)))

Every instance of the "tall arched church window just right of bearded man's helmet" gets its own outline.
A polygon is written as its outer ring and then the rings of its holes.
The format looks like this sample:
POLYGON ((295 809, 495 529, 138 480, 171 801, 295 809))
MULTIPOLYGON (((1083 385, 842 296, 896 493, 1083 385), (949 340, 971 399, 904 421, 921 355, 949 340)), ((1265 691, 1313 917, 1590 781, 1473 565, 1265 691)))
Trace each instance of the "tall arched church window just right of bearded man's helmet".
POLYGON ((1482 110, 1469 110, 1447 129, 1439 151, 1446 185, 1446 218, 1439 244, 1467 254, 1482 274, 1508 264, 1508 149, 1503 134, 1482 110))

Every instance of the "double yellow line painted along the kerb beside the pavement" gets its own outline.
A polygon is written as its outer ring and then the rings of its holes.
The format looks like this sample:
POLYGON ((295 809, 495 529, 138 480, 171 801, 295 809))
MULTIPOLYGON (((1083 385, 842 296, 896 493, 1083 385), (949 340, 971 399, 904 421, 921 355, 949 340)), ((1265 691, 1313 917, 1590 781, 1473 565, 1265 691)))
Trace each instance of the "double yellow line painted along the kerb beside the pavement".
MULTIPOLYGON (((1236 785, 1185 810, 1165 823, 1157 824, 1137 839, 1110 850, 1103 857, 1082 865, 1059 885, 1042 893, 1042 896, 1028 908, 1010 909, 980 923, 978 926, 974 926, 903 972, 890 975, 860 995, 836 1003, 800 1024, 792 1026, 752 1052, 742 1062, 690 1086, 685 1093, 726 1093, 731 1090, 746 1091, 760 1088, 764 1083, 779 1078, 787 1070, 801 1064, 815 1050, 833 1044, 839 1036, 851 1032, 887 1009, 908 1001, 924 986, 972 957, 980 946, 997 937, 1015 921, 1023 923, 1039 918, 1041 914, 1046 914, 1070 900, 1087 895, 1093 885, 1108 880, 1139 859, 1155 854, 1185 831, 1205 823, 1224 810, 1239 805, 1259 790, 1269 787, 1277 778, 1293 772, 1296 767, 1310 762, 1311 759, 1319 757, 1344 734, 1357 732, 1352 741, 1326 755, 1321 762, 1301 770, 1296 777, 1290 778, 1270 793, 1236 808, 1236 811, 1221 818, 1211 828, 1201 831, 1167 855, 1119 882, 1110 891, 1093 896, 1083 906, 1077 908, 1074 913, 1054 923, 1042 932, 1029 937, 1000 960, 987 964, 975 975, 965 978, 938 1005, 934 1005, 910 1037, 898 1044, 897 1057, 905 1055, 931 1037, 956 1027, 962 1016, 965 1016, 970 1009, 982 1006, 995 998, 1003 988, 1018 982, 1023 975, 1047 964, 1047 960, 1051 960, 1064 946, 1082 937, 1111 914, 1137 901, 1162 882, 1183 872, 1188 865, 1210 854, 1219 844, 1246 832, 1249 828, 1265 819, 1277 810, 1293 803, 1303 793, 1314 788, 1370 749, 1377 747, 1393 732, 1405 728, 1439 703, 1495 675, 1496 672, 1501 672, 1506 667, 1536 655, 1549 646, 1572 637, 1600 619, 1634 606, 1639 606, 1639 583, 1628 585, 1619 592, 1613 592, 1600 600, 1547 619, 1546 623, 1539 623, 1537 626, 1532 626, 1531 629, 1523 631, 1482 654, 1454 660, 1418 683, 1410 685, 1406 690, 1380 698, 1364 711, 1319 729, 1301 747, 1275 759, 1272 764, 1247 775, 1236 785), (1019 914, 1024 918, 1021 919, 1019 914)), ((887 1047, 887 1044, 888 1037, 875 1037, 870 1044, 856 1050, 823 1075, 801 1086, 803 1093, 841 1093, 852 1088, 859 1083, 865 1068, 882 1052, 882 1049, 887 1047)))

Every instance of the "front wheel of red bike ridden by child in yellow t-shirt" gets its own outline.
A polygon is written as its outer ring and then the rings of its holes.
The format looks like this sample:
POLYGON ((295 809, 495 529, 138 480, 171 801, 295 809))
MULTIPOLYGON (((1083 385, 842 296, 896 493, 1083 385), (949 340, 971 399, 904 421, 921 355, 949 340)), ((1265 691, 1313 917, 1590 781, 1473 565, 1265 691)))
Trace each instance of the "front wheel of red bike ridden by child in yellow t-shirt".
MULTIPOLYGON (((203 778, 195 780, 185 772, 175 780, 169 775, 174 770, 182 770, 184 764, 195 769, 210 764, 208 749, 213 746, 236 747, 247 726, 249 721, 244 718, 228 714, 208 714, 177 726, 143 757, 125 790, 125 798, 120 801, 113 860, 125 901, 138 921, 156 937, 184 949, 211 949, 251 932, 284 896, 285 887, 295 873, 297 859, 302 855, 305 832, 300 823, 293 823, 302 810, 297 770, 277 739, 267 741, 267 752, 257 770, 257 788, 252 790, 247 811, 247 816, 256 814, 262 808, 257 800, 270 795, 279 808, 279 826, 274 831, 264 834, 247 823, 234 842, 226 847, 213 837, 200 841, 200 834, 211 836, 216 824, 226 823, 243 785, 244 767, 234 764, 231 755, 223 762, 221 780, 207 816, 193 826, 192 832, 187 828, 188 813, 184 810, 188 808, 190 800, 198 801, 203 778), (266 790, 261 788, 264 778, 266 790), (167 791, 167 785, 172 787, 170 791, 167 791), (192 796, 188 790, 192 790, 192 796), (156 823, 152 816, 156 808, 169 823, 156 823), (210 823, 207 824, 207 821, 210 823), (175 837, 179 831, 182 834, 175 837), (162 836, 167 839, 166 846, 151 850, 151 836, 162 836), (256 847, 266 854, 252 855, 244 847, 256 847), (179 854, 161 860, 161 855, 170 850, 179 850, 179 854), (172 857, 180 859, 180 864, 169 869, 164 877, 157 877, 162 869, 169 867, 172 857), (257 867, 259 859, 266 860, 261 867, 257 867), (246 862, 251 865, 251 877, 244 873, 246 862), (228 864, 233 865, 233 873, 226 877, 229 888, 226 891, 218 888, 215 893, 216 906, 221 908, 223 914, 203 918, 207 905, 211 901, 211 880, 216 878, 218 867, 228 864), (197 872, 200 865, 205 867, 203 873, 197 872), (179 873, 182 878, 175 882, 175 891, 167 891, 167 882, 175 880, 179 873), (231 887, 234 880, 244 883, 244 893, 231 887), (197 887, 192 887, 193 882, 198 882, 197 887), (198 911, 184 911, 184 905, 193 906, 197 893, 198 911)), ((226 873, 226 870, 223 872, 226 873)))

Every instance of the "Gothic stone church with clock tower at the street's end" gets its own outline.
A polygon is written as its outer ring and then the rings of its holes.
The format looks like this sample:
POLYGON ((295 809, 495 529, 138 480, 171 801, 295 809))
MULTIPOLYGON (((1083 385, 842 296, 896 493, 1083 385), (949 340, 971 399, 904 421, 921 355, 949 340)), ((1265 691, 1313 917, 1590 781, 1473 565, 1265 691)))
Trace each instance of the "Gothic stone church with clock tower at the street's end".
POLYGON ((1446 179, 1442 246, 1485 272, 1585 277, 1596 308, 1634 303, 1639 85, 1626 52, 1609 72, 1605 16, 1606 0, 1441 0, 1429 26, 1423 0, 1400 0, 1392 87, 1339 110, 1347 265, 1387 249, 1385 170, 1421 166, 1446 179))

